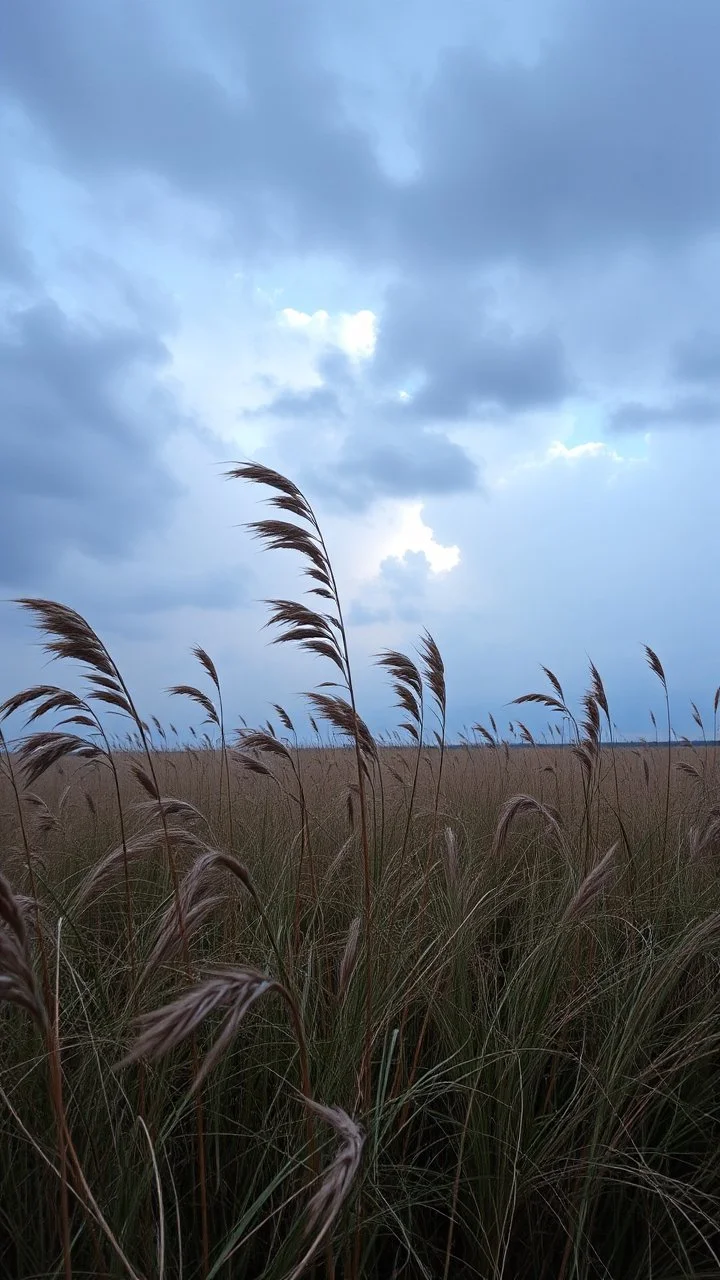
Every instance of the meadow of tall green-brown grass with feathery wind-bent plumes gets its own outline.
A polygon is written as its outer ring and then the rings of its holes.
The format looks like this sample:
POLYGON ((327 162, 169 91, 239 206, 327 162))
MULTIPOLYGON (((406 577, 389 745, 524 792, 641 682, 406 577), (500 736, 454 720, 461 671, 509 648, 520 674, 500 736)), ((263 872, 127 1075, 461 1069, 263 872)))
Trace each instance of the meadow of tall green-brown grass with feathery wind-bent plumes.
POLYGON ((673 741, 648 649, 657 742, 591 667, 450 745, 424 634, 378 742, 311 507, 233 476, 315 593, 269 603, 333 682, 310 741, 227 724, 196 649, 183 746, 20 602, 73 675, 0 710, 0 1275, 720 1276, 720 691, 673 741))

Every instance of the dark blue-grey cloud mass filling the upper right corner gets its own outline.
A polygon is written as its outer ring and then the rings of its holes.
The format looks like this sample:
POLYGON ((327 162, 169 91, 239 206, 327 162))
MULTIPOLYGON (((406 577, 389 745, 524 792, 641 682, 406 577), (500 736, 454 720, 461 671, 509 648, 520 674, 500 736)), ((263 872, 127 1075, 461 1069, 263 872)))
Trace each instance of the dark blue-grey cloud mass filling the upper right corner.
POLYGON ((720 9, 714 0, 560 5, 532 61, 443 59, 400 200, 416 260, 538 262, 714 230, 720 9))

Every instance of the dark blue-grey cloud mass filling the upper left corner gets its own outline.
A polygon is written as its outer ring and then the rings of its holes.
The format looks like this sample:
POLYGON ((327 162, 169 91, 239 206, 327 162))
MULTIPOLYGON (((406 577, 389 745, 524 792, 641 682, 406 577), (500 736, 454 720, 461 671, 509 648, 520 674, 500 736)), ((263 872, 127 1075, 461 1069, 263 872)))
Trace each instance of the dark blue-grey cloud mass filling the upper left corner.
POLYGON ((223 210, 246 250, 355 250, 380 173, 313 27, 311 6, 283 0, 27 0, 4 15, 0 78, 88 179, 158 177, 223 210))

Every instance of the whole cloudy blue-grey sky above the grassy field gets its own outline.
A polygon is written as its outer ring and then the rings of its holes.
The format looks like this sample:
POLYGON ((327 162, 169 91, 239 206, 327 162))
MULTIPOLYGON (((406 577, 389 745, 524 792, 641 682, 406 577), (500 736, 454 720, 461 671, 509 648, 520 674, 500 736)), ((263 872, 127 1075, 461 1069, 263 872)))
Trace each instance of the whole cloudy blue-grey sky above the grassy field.
MULTIPOLYGON (((0 18, 0 698, 20 595, 143 712, 259 723, 332 678, 273 646, 313 502, 360 710, 427 627, 452 732, 588 659, 619 732, 720 685, 716 0, 23 0, 0 18)), ((67 678, 67 677, 65 677, 67 678)), ((546 717, 523 716, 539 728, 546 717)))

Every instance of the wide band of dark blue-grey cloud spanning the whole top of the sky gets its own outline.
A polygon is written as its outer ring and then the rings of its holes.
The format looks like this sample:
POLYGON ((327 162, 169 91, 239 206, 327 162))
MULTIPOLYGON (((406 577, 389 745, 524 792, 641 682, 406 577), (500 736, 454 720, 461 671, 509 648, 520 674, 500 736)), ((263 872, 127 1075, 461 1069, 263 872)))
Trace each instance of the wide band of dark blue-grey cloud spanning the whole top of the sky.
POLYGON ((715 0, 566 3, 533 60, 446 52, 404 183, 343 111, 327 26, 318 3, 24 0, 4 15, 0 67, 78 172, 158 175, 254 238, 424 270, 716 228, 715 0))

